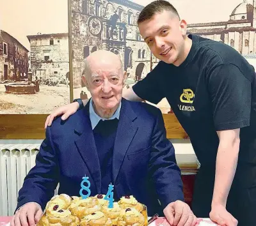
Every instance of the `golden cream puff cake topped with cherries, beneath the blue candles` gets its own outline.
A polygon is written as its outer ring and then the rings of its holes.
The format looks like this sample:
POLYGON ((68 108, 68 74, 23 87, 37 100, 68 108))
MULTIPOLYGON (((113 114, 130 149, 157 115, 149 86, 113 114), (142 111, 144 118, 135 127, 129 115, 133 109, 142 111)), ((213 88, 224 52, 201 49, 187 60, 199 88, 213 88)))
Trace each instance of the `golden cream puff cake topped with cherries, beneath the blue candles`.
POLYGON ((55 195, 45 207, 38 226, 143 226, 147 225, 147 207, 135 197, 124 196, 118 202, 109 201, 105 195, 83 199, 66 194, 55 195), (128 198, 129 197, 129 198, 128 198))

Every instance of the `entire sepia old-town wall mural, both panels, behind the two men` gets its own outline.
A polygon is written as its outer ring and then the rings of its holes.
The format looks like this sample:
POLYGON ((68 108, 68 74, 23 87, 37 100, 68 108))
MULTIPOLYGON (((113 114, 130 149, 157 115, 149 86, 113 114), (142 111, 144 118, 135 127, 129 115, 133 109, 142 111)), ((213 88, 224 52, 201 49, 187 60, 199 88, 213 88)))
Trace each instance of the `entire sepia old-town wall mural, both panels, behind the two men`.
MULTIPOLYGON (((98 49, 121 57, 128 74, 124 89, 147 76, 159 62, 136 25, 140 11, 151 0, 70 1, 69 50, 67 0, 9 0, 0 8, 1 114, 49 114, 69 102, 70 82, 74 98, 90 98, 81 73, 84 59, 98 49), (68 53, 72 54, 72 80, 68 53)), ((188 23, 188 33, 222 41, 256 67, 256 0, 170 3, 188 23)), ((157 107, 163 113, 172 112, 166 99, 157 107)))

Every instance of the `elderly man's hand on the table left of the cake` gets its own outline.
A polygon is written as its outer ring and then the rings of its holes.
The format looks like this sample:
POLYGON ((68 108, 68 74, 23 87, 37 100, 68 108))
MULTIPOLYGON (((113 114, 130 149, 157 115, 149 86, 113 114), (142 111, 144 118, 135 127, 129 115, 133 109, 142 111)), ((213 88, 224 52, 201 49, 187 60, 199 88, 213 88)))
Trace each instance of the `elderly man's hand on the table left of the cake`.
POLYGON ((39 204, 29 202, 16 211, 10 226, 33 226, 39 222, 43 211, 39 204))

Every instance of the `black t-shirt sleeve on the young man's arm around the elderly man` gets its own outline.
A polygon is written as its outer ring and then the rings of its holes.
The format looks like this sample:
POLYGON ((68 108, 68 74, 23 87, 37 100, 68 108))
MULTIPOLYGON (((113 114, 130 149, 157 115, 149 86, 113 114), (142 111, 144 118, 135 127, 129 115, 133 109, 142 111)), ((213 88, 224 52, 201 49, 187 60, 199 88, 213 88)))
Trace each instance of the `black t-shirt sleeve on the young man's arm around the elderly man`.
POLYGON ((154 104, 159 103, 164 98, 159 82, 159 79, 161 79, 161 73, 159 73, 158 70, 159 66, 160 65, 158 64, 144 79, 132 86, 132 89, 137 96, 154 104))

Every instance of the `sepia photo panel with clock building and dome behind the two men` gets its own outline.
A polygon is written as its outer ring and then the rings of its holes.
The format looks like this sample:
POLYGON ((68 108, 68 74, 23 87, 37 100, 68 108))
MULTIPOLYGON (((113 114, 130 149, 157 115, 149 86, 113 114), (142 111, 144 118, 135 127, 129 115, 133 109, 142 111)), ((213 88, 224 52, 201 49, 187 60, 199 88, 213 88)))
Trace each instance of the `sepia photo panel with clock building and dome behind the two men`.
MULTIPOLYGON (((121 57, 128 78, 124 89, 147 76, 159 62, 141 38, 136 20, 151 0, 71 0, 74 98, 89 98, 81 82, 83 61, 106 49, 121 57)), ((256 0, 169 0, 188 23, 188 33, 234 47, 256 68, 256 0)), ((166 72, 168 73, 168 72, 166 72)), ((170 75, 172 76, 172 75, 170 75)), ((163 99, 158 105, 171 113, 163 99)))

